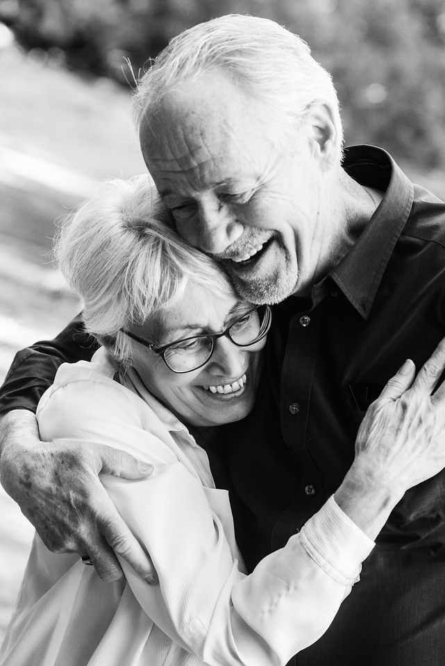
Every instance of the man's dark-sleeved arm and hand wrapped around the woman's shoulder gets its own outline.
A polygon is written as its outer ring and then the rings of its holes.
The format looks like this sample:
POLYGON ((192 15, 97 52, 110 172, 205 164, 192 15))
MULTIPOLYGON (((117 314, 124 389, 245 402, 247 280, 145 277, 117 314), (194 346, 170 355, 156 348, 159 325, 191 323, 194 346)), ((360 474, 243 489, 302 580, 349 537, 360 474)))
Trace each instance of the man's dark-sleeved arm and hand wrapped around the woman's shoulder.
POLYGON ((88 552, 106 581, 121 578, 113 553, 124 552, 147 580, 153 567, 103 493, 99 472, 147 475, 131 456, 103 446, 41 441, 35 410, 64 361, 90 359, 97 343, 79 314, 51 341, 18 352, 0 388, 0 481, 53 552, 88 552))

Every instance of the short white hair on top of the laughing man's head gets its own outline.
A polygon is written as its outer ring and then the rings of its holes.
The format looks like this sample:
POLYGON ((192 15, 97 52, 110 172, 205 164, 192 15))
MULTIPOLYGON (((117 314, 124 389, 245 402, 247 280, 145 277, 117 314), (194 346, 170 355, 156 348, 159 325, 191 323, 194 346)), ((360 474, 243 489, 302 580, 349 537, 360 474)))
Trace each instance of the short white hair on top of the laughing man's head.
POLYGON ((328 103, 342 154, 342 121, 332 78, 301 37, 276 22, 230 14, 198 24, 171 40, 141 78, 133 96, 140 126, 165 94, 211 69, 227 74, 245 94, 265 104, 267 122, 283 144, 314 101, 328 103))

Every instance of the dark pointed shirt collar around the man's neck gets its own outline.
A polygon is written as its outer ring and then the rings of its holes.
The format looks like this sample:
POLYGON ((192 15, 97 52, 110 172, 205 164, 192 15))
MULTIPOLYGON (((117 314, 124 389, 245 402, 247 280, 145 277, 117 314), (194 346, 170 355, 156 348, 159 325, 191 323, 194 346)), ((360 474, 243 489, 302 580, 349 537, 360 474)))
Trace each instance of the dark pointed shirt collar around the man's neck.
POLYGON ((382 148, 345 148, 342 166, 360 185, 385 191, 367 227, 329 273, 351 305, 367 319, 389 257, 408 220, 414 189, 391 155, 382 148))

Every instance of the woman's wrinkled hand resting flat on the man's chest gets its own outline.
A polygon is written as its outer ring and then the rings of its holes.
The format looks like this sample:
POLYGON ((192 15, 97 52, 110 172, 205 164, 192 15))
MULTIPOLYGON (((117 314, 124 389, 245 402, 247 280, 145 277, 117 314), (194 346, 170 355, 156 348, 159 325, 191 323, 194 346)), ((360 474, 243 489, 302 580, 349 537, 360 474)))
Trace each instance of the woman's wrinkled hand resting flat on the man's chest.
POLYGON ((405 361, 367 410, 334 498, 372 539, 408 488, 445 467, 445 339, 419 370, 405 361))

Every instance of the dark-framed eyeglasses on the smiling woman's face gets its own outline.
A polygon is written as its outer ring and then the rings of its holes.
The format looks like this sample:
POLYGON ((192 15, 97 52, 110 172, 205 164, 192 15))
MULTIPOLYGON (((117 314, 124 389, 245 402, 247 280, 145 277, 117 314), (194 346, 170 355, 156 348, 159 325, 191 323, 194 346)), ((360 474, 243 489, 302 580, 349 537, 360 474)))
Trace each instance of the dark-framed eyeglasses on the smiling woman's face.
POLYGON ((218 338, 228 337, 237 347, 249 347, 267 334, 272 321, 269 305, 257 305, 233 321, 221 333, 203 333, 156 347, 139 336, 121 328, 129 338, 159 354, 174 373, 191 373, 210 361, 218 338))

